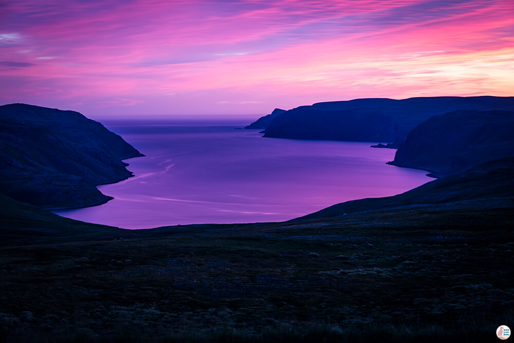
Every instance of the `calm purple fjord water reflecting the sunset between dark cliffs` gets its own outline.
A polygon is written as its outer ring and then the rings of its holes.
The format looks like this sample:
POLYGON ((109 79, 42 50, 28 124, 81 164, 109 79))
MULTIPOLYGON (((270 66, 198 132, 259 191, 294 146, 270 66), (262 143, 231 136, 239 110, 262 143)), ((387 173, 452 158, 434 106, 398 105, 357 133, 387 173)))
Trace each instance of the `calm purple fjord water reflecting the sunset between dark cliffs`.
POLYGON ((145 157, 134 177, 98 188, 114 200, 57 211, 128 229, 177 224, 284 221, 364 197, 398 194, 431 180, 386 165, 395 150, 376 142, 262 138, 236 130, 254 118, 104 122, 145 157))

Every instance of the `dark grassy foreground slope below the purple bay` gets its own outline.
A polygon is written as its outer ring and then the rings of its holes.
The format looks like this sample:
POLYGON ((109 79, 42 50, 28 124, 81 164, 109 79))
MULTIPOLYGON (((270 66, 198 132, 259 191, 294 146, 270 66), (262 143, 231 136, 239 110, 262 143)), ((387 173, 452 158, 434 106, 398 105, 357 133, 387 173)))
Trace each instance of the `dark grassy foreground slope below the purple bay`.
POLYGON ((513 209, 502 197, 125 231, 26 206, 2 216, 0 337, 497 341, 514 322, 513 209), (12 234, 26 216, 36 241, 12 234))

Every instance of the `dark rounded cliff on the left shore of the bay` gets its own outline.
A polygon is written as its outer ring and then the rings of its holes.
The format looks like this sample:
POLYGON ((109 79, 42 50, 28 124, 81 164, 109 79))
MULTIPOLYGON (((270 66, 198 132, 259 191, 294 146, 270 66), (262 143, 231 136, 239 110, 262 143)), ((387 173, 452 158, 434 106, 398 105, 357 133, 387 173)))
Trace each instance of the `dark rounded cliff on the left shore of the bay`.
POLYGON ((43 208, 99 205, 96 185, 132 176, 121 161, 142 156, 102 124, 74 111, 0 106, 0 193, 43 208))

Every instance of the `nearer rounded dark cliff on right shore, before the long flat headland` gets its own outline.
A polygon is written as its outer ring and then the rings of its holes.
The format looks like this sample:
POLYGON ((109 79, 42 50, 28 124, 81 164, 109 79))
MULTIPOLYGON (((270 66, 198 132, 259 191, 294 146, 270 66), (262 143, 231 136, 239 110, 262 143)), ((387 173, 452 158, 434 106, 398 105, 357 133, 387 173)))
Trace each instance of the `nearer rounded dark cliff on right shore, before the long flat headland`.
POLYGON ((514 112, 456 111, 434 116, 407 136, 389 164, 446 175, 514 157, 514 112))

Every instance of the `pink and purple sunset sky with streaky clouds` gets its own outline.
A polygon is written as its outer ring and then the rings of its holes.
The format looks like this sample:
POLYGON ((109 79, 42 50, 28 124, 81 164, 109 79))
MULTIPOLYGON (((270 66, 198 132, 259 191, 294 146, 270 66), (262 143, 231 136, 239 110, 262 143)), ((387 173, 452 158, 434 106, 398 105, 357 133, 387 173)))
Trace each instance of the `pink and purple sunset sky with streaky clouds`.
POLYGON ((91 117, 514 96, 514 1, 1 0, 0 87, 91 117))

